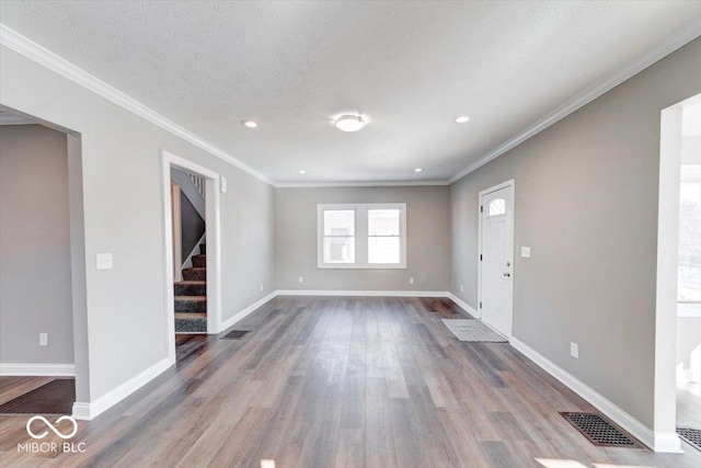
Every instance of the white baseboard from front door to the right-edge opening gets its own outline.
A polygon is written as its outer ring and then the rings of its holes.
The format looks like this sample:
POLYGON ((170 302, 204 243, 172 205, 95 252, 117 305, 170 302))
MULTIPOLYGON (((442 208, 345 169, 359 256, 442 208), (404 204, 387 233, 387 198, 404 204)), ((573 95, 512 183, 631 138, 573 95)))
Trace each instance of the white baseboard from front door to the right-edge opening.
POLYGON ((587 400, 599 411, 610 418, 611 421, 620 425, 625 431, 630 432, 631 435, 633 435, 635 438, 637 438, 640 442, 642 442, 653 450, 658 453, 673 454, 682 453, 677 434, 655 434, 650 427, 628 414, 625 411, 613 404, 599 392, 588 387, 583 381, 578 380, 572 374, 565 372, 563 368, 548 359, 542 354, 538 353, 532 347, 528 346, 522 341, 518 340, 515 336, 512 336, 510 344, 516 350, 524 353, 526 357, 538 364, 548 374, 567 386, 579 397, 587 400), (673 438, 676 438, 676 442, 673 438))

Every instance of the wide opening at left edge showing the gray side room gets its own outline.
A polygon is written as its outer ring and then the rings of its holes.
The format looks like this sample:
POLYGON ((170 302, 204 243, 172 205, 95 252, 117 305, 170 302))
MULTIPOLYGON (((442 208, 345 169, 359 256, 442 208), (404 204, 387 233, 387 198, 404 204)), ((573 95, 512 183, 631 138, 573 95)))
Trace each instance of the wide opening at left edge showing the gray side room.
POLYGON ((0 106, 0 413, 90 401, 80 134, 0 106))

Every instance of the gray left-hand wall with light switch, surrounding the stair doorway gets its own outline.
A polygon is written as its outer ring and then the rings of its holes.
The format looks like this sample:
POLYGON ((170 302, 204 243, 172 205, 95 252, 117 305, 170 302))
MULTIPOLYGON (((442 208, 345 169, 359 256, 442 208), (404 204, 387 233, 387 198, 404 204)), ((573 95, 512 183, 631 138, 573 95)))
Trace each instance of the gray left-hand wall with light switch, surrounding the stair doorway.
POLYGON ((273 187, 7 47, 0 104, 82 137, 91 401, 168 358, 161 149, 228 180, 222 319, 274 290, 273 187), (114 269, 95 270, 100 252, 114 269))

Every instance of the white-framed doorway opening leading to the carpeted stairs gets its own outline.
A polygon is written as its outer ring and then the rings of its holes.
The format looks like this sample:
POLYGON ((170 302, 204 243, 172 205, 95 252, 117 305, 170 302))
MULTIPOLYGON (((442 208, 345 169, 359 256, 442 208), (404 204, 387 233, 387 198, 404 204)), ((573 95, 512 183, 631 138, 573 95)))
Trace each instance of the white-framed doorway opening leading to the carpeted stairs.
POLYGON ((162 152, 169 357, 175 334, 221 328, 220 192, 218 173, 162 152))

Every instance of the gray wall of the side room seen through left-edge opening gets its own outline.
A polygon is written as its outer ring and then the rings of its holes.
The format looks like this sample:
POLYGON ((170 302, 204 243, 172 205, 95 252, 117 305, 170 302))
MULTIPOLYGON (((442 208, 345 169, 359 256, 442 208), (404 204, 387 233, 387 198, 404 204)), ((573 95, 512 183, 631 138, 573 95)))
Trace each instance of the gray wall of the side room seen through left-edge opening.
POLYGON ((73 364, 67 151, 66 134, 0 126, 3 364, 73 364))

